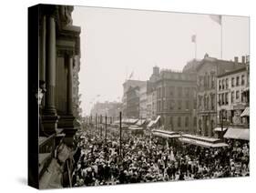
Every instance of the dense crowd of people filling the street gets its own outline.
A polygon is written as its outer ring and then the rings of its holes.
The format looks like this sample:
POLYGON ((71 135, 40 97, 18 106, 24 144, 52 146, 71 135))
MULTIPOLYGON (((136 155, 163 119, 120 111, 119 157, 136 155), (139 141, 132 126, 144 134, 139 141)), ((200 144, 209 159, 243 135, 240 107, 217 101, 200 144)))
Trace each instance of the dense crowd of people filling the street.
POLYGON ((81 153, 73 186, 249 176, 248 141, 230 140, 228 147, 205 148, 163 140, 123 132, 120 148, 115 129, 104 137, 88 127, 78 138, 81 153))

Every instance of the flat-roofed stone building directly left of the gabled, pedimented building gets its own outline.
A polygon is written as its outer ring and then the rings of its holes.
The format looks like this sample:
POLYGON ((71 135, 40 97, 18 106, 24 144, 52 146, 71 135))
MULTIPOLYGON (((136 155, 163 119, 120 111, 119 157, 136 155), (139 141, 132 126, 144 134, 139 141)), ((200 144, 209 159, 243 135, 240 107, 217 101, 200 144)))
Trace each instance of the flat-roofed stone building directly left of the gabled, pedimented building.
POLYGON ((196 75, 161 70, 156 79, 157 116, 165 129, 194 133, 196 75))

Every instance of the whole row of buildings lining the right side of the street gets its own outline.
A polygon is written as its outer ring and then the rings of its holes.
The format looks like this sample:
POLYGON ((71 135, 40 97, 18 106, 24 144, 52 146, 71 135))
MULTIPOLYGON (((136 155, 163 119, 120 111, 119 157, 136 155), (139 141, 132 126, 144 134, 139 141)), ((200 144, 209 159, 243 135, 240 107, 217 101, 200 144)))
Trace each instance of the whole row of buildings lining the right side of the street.
POLYGON ((154 66, 147 81, 127 80, 123 86, 124 117, 160 117, 166 130, 205 137, 219 136, 222 118, 229 126, 249 125, 249 56, 239 62, 206 54, 182 72, 154 66))

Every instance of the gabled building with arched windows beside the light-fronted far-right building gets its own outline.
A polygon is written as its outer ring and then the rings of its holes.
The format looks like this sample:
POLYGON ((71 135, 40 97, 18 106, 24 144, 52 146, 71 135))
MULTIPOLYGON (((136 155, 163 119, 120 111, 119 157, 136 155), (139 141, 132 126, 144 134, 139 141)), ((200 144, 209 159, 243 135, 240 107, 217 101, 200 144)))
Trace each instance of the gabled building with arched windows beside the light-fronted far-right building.
POLYGON ((197 134, 207 137, 214 136, 217 127, 217 76, 229 70, 244 66, 235 61, 220 60, 205 55, 196 65, 197 71, 197 134))

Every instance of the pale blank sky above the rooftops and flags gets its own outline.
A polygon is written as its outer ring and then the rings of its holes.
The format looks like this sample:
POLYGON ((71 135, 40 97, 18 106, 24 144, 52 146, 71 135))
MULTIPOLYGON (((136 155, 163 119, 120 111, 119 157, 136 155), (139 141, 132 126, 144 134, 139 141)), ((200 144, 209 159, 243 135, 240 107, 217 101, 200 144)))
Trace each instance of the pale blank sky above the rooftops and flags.
POLYGON ((208 53, 233 60, 250 53, 250 20, 210 15, 75 6, 73 25, 81 27, 79 92, 83 114, 97 102, 120 101, 122 84, 148 80, 153 66, 182 70, 188 61, 208 53), (197 55, 191 36, 196 35, 197 55))

